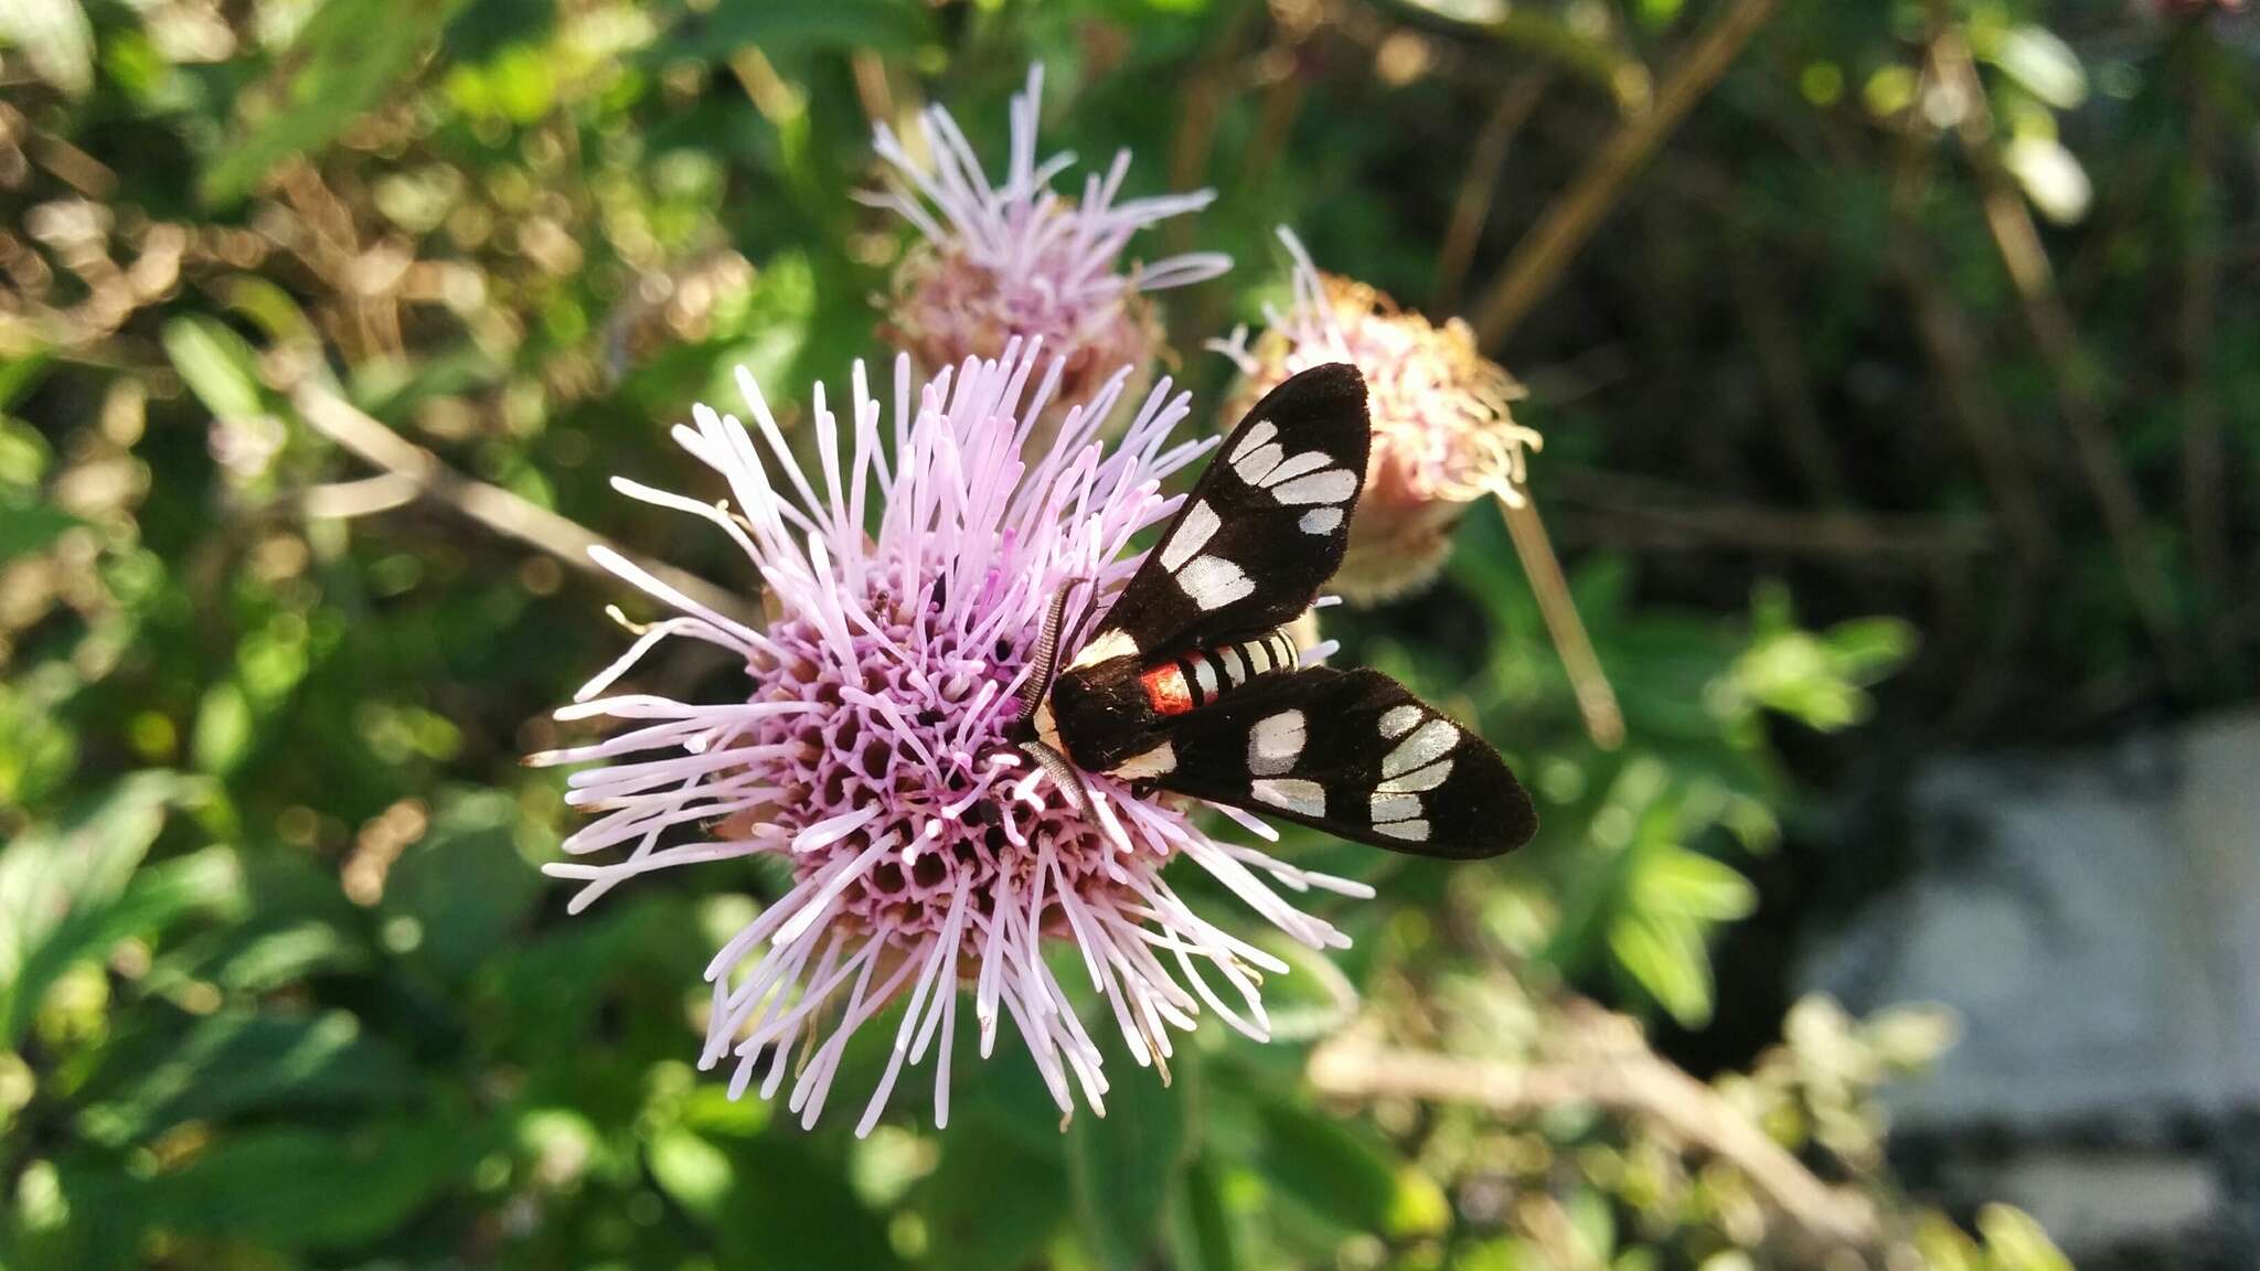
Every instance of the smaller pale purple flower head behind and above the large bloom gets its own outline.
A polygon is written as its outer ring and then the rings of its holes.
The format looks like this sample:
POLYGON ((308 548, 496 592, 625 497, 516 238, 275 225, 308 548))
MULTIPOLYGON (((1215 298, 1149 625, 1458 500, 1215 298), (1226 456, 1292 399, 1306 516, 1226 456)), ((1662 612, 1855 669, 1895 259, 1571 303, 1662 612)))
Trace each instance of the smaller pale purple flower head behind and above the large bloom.
POLYGON ((922 369, 999 357, 1012 337, 1040 337, 1067 364, 1060 400, 1078 403, 1121 366, 1144 373, 1159 353, 1162 326, 1146 292, 1216 278, 1232 260, 1196 251, 1123 269, 1130 235, 1205 208, 1216 194, 1116 204, 1130 172, 1123 149, 1105 179, 1087 176, 1083 201, 1069 204, 1051 190, 1051 179, 1076 156, 1035 158, 1042 88, 1044 70, 1031 66, 1026 93, 1012 97, 1012 156, 1001 185, 990 185, 949 111, 920 113, 929 163, 879 124, 875 149, 893 167, 893 181, 875 201, 922 235, 895 269, 881 335, 909 348, 922 369))

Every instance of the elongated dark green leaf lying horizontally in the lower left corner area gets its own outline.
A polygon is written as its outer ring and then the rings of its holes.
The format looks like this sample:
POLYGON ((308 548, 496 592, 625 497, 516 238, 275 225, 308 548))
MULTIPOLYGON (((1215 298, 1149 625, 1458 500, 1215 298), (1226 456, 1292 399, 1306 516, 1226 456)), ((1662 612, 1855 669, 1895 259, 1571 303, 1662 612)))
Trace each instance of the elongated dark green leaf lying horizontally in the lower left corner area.
POLYGON ((219 1122, 246 1110, 334 1113, 398 1101, 416 1081, 398 1054, 364 1036, 344 1011, 228 1013, 197 1022, 185 1038, 172 1029, 149 1034, 113 1045, 95 1074, 93 1104, 81 1115, 90 1140, 127 1144, 181 1122, 219 1122))

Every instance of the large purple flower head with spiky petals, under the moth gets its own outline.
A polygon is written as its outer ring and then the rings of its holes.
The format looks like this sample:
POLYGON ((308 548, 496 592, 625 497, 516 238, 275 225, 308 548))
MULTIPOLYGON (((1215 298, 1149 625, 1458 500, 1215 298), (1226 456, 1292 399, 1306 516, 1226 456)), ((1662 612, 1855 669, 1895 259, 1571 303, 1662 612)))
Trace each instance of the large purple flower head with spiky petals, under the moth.
POLYGON ((1168 446, 1186 396, 1166 382, 1103 448, 1098 432, 1128 380, 1119 371, 1064 412, 1058 446, 1026 452, 1062 373, 1015 341, 1001 362, 967 360, 913 394, 902 357, 888 409, 857 366, 845 421, 816 389, 809 473, 741 371, 750 430, 707 407, 696 407, 696 427, 676 430, 723 477, 734 507, 615 482, 728 534, 762 574, 775 617, 755 631, 597 552, 678 613, 644 629, 558 712, 628 730, 536 755, 599 764, 576 771, 567 794, 601 812, 565 841, 588 859, 547 868, 585 882, 579 909, 655 868, 782 862, 791 887, 707 966, 714 1002, 701 1065, 728 1063, 732 1095, 759 1083, 768 1099, 791 1083, 802 1124, 823 1110, 847 1038, 897 997, 906 1011, 859 1133, 877 1122, 904 1063, 929 1049, 933 1117, 945 1124, 960 986, 983 1056, 1010 1020, 1062 1113, 1074 1108, 1071 1088, 1103 1110, 1101 1052, 1046 966, 1046 945, 1080 954, 1141 1065, 1166 1072, 1171 1029, 1191 1029, 1202 1004, 1263 1038, 1257 972, 1286 963, 1186 907, 1162 877, 1180 855, 1313 948, 1349 941, 1286 905, 1275 884, 1370 896, 1211 839, 1184 807, 1105 776, 1087 776, 1092 812, 1078 814, 1003 746, 1053 593, 1071 579, 1089 579, 1096 595, 1128 581, 1130 536, 1177 502, 1159 493, 1162 477, 1207 448, 1168 446), (667 638, 739 658, 744 694, 712 703, 612 694, 667 638))

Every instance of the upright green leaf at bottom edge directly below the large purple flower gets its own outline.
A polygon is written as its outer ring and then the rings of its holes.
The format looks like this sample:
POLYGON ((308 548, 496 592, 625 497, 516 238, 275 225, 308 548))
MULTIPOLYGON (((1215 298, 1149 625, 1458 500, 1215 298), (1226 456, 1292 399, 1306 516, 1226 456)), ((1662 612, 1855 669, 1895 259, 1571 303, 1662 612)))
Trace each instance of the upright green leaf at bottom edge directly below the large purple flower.
MULTIPOLYGON (((1105 1070, 1107 1115, 1080 1115, 1067 1131, 1067 1169, 1076 1187, 1076 1224, 1101 1266, 1135 1269, 1150 1260, 1162 1212, 1184 1169, 1189 1090, 1162 1086, 1139 1067, 1121 1029, 1096 1029, 1105 1070)), ((1180 1052, 1191 1072, 1193 1049, 1180 1052)))

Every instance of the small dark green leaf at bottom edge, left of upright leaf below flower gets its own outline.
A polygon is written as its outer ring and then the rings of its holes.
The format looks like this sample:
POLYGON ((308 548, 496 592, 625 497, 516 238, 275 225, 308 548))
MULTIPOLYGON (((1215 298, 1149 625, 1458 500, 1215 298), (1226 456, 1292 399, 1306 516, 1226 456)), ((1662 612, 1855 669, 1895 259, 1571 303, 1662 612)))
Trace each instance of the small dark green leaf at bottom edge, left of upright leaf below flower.
POLYGON ((918 1208, 936 1271, 1010 1271, 1035 1262, 1067 1221, 1071 1187, 1058 1156, 1033 1151, 981 1115, 942 1135, 942 1158, 920 1185, 918 1208), (1006 1178, 1008 1199, 997 1190, 1006 1178))

